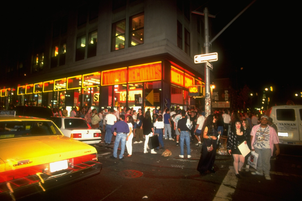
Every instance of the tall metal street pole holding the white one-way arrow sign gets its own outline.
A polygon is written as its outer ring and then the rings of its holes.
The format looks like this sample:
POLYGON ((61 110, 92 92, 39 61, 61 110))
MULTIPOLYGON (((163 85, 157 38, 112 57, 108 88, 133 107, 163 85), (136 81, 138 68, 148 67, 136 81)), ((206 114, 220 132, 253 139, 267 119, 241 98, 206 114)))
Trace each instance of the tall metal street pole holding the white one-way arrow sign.
MULTIPOLYGON (((208 8, 204 8, 204 49, 205 53, 209 53, 209 26, 208 26, 208 8)), ((210 97, 210 69, 207 62, 204 63, 205 70, 205 117, 211 114, 211 97, 210 97)))

